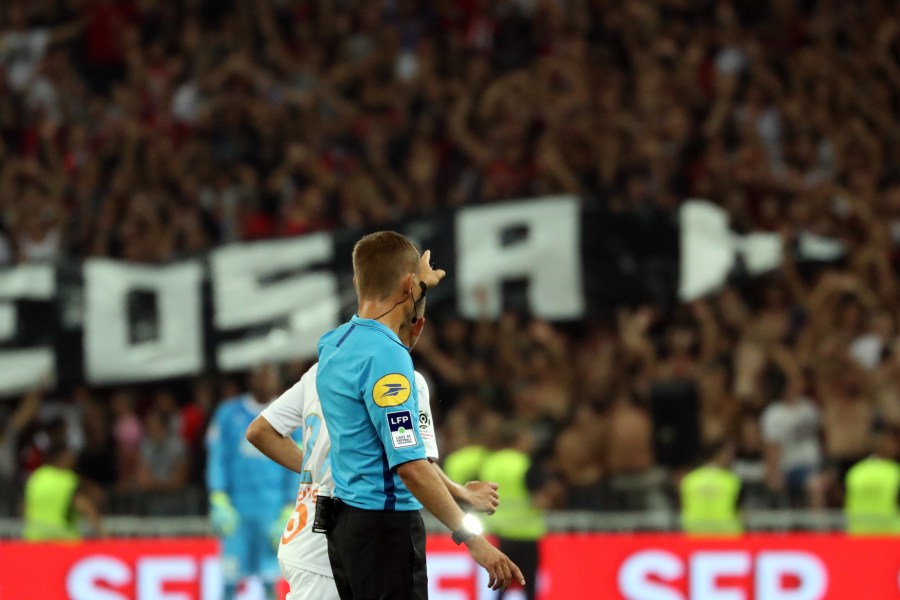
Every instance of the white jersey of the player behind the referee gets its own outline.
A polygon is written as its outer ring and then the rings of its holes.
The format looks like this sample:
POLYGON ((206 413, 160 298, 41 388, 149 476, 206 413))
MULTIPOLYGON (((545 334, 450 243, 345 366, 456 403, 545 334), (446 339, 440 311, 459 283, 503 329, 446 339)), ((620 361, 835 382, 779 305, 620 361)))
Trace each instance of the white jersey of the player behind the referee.
MULTIPOLYGON (((316 392, 318 363, 310 367, 294 386, 278 397, 262 412, 263 418, 283 436, 303 428, 303 468, 294 513, 288 520, 278 547, 278 559, 285 565, 333 577, 328 562, 328 542, 323 534, 312 532, 315 498, 319 485, 334 491, 331 478, 331 439, 322 418, 322 406, 316 392)), ((428 384, 417 371, 419 394, 419 432, 425 454, 438 459, 437 441, 431 418, 428 384)))

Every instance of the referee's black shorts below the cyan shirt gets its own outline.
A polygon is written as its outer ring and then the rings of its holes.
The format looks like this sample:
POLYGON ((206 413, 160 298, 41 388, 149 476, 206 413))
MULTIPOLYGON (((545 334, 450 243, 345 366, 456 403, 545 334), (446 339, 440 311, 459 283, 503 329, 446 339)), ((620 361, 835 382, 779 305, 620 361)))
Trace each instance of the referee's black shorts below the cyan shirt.
POLYGON ((341 600, 426 600, 419 511, 363 510, 335 501, 328 560, 341 600))

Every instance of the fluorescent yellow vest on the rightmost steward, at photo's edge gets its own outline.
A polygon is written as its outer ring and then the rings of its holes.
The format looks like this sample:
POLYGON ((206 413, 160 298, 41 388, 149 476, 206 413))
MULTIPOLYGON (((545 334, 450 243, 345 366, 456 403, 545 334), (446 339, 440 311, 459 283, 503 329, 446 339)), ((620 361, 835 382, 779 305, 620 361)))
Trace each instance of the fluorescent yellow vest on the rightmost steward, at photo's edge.
POLYGON ((900 534, 900 464, 871 457, 847 472, 844 514, 853 535, 900 534))

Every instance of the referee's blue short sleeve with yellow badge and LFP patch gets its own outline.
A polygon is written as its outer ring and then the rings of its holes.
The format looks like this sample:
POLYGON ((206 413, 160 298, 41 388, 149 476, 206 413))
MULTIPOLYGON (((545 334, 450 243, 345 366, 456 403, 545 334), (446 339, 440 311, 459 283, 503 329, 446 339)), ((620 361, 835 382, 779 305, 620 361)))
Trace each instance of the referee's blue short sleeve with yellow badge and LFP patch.
POLYGON ((369 419, 381 439, 391 469, 425 459, 419 437, 419 399, 412 359, 399 346, 377 353, 365 376, 369 419))

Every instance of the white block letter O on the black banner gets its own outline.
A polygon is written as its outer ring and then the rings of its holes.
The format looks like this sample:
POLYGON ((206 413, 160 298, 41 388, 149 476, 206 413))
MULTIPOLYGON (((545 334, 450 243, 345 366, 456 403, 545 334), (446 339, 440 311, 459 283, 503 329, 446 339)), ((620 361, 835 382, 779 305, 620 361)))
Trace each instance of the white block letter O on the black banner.
POLYGON ((164 267, 92 259, 84 265, 84 348, 90 383, 165 379, 203 368, 200 262, 164 267), (132 342, 128 297, 156 300, 156 339, 132 342))

